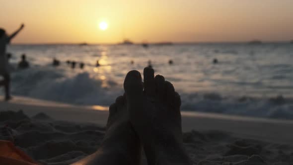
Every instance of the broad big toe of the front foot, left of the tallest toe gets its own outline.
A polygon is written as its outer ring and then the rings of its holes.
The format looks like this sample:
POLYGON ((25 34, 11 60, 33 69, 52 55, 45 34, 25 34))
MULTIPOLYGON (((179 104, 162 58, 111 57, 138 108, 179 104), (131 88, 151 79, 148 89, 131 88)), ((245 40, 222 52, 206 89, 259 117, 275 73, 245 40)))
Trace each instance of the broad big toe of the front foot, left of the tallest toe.
POLYGON ((143 82, 141 73, 138 71, 130 71, 124 80, 124 90, 127 95, 135 96, 143 93, 143 82))

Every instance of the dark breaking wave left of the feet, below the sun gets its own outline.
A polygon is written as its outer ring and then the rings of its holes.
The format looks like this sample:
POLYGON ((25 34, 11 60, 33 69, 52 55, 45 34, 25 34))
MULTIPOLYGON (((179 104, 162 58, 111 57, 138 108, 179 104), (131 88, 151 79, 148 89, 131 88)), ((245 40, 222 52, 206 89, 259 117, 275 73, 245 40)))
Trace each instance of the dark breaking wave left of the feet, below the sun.
POLYGON ((60 69, 43 67, 12 75, 12 94, 82 105, 110 105, 123 94, 117 83, 80 72, 73 76, 60 69))

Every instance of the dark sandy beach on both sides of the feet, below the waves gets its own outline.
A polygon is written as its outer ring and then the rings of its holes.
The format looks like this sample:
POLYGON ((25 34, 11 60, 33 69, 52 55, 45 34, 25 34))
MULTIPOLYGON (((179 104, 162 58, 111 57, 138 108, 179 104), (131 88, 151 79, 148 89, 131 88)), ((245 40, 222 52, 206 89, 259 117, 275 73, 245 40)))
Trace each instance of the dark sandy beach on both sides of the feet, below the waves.
MULTIPOLYGON (((0 107, 0 125, 13 130, 15 145, 44 165, 68 165, 96 151, 108 117, 103 106, 18 96, 0 102, 0 107), (16 113, 3 112, 7 110, 16 113)), ((184 146, 194 165, 293 162, 292 121, 182 112, 182 127, 184 146)))

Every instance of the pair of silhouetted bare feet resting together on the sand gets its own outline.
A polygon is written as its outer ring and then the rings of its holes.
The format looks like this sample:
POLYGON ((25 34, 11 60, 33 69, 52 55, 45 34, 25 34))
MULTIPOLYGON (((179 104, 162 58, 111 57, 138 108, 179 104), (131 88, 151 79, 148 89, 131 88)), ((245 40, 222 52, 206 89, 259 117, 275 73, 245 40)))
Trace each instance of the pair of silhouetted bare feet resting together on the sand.
POLYGON ((183 148, 181 100, 171 83, 151 68, 130 71, 125 94, 109 108, 101 147, 74 165, 139 165, 141 149, 148 165, 190 165, 183 148))

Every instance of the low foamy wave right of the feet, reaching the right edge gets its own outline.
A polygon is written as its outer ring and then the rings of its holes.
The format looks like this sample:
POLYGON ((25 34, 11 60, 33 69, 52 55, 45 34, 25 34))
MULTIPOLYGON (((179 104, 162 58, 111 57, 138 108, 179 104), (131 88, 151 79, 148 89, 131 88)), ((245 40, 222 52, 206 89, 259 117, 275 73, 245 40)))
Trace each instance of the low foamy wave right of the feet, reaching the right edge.
POLYGON ((231 115, 293 119, 293 99, 222 96, 219 93, 181 94, 182 109, 231 115))

